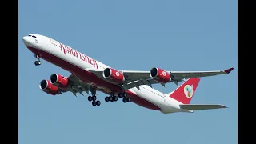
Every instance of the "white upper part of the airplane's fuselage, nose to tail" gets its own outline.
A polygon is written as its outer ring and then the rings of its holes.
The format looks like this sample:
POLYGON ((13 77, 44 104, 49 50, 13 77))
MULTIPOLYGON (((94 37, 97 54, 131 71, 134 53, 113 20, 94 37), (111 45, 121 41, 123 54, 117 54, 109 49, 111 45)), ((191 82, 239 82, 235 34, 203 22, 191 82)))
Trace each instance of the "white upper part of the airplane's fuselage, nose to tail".
MULTIPOLYGON (((55 41, 52 38, 48 38, 39 34, 33 34, 37 38, 32 38, 26 36, 23 38, 24 43, 27 47, 32 47, 34 49, 42 50, 48 54, 52 54, 55 57, 62 59, 82 70, 86 69, 98 69, 104 70, 106 67, 102 62, 98 62, 93 58, 86 56, 70 48, 70 46, 65 46, 60 42, 55 41)), ((111 89, 111 88, 108 88, 111 89)), ((174 112, 190 112, 189 110, 182 110, 179 107, 181 102, 170 98, 169 95, 163 94, 162 92, 155 90, 147 85, 139 86, 139 89, 134 87, 129 89, 129 91, 139 98, 143 98, 147 102, 158 106, 162 113, 174 113, 174 112)))

